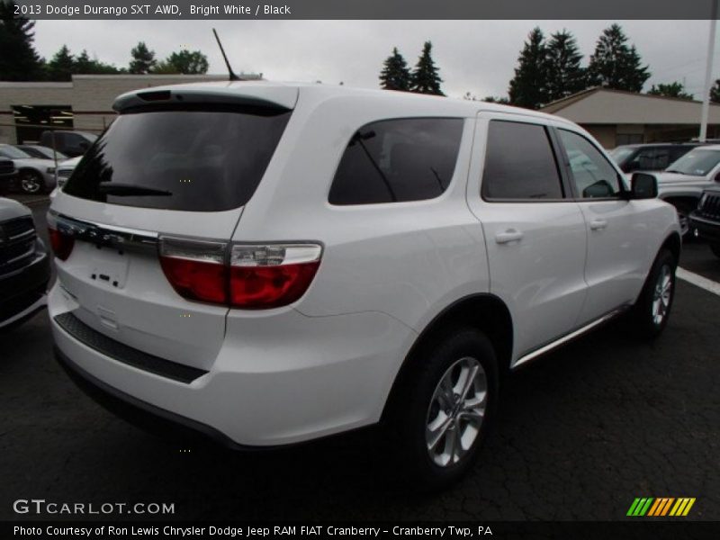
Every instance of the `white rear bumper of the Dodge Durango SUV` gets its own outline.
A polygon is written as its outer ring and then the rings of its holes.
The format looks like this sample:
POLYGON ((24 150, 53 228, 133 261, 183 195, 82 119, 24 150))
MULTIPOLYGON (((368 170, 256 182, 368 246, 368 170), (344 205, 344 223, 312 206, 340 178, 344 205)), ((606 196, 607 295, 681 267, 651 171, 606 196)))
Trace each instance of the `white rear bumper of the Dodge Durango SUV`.
MULTIPOLYGON (((290 445, 376 423, 416 336, 377 312, 230 317, 209 370, 182 381, 58 324, 77 308, 58 284, 52 288, 50 324, 66 369, 112 395, 110 408, 124 418, 159 417, 234 448, 290 445), (130 403, 130 414, 118 401, 130 403)), ((121 332, 113 336, 121 342, 121 332)))

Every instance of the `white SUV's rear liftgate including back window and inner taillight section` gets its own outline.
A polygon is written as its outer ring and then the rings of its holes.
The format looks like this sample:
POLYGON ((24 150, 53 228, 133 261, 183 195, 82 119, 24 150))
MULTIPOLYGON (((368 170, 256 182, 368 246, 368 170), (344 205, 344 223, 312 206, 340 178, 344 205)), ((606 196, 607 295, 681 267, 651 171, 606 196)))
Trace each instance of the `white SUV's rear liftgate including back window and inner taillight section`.
POLYGON ((249 96, 224 86, 168 88, 116 102, 120 116, 52 202, 50 235, 58 284, 77 303, 77 319, 129 347, 207 370, 228 312, 211 278, 297 90, 266 101, 262 88, 249 96), (193 290, 183 289, 188 275, 193 290))

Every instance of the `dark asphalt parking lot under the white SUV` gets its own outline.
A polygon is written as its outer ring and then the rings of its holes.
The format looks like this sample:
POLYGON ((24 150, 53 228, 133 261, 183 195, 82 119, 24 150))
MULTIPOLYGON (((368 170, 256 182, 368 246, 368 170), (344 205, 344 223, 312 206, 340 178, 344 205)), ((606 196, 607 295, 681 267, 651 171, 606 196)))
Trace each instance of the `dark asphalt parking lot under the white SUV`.
MULTIPOLYGON (((44 233, 47 204, 31 207, 44 233)), ((681 264, 720 282, 707 246, 681 264)), ((511 375, 473 473, 419 496, 392 480, 373 433, 257 454, 145 434, 70 383, 40 314, 0 336, 0 518, 37 518, 13 511, 34 498, 175 503, 178 519, 587 520, 624 518, 635 497, 695 497, 689 518, 717 520, 717 320, 720 297, 679 281, 653 345, 616 323, 511 375)))

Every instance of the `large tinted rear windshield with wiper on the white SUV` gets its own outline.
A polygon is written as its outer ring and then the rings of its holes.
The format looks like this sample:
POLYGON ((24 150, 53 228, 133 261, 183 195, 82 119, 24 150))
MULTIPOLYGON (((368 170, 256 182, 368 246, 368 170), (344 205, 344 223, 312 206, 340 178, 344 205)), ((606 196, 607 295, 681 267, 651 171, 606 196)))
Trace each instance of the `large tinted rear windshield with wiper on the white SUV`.
POLYGON ((238 208, 265 174, 290 114, 265 108, 121 114, 63 191, 163 210, 238 208))

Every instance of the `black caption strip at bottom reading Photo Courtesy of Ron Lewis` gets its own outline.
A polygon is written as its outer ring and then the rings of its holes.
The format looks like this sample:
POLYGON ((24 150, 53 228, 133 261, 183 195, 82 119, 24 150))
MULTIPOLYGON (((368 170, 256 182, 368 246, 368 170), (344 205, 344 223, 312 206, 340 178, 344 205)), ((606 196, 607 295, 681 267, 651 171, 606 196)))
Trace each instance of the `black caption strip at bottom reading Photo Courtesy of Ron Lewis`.
POLYGON ((720 522, 660 521, 474 521, 474 522, 367 522, 367 523, 246 523, 246 522, 110 522, 6 521, 0 537, 7 538, 183 538, 272 540, 313 538, 380 538, 383 540, 442 538, 633 538, 680 540, 720 538, 720 522))

